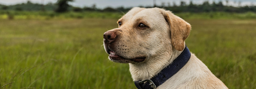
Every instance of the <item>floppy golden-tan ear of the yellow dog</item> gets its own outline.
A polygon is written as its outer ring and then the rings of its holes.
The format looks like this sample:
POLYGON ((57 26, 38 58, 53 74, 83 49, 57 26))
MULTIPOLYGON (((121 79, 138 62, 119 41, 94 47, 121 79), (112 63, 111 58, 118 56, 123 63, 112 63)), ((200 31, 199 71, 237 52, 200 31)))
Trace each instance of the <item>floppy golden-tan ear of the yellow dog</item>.
POLYGON ((161 10, 161 14, 168 22, 171 29, 171 44, 174 49, 182 51, 184 49, 184 41, 188 37, 191 26, 185 20, 171 13, 171 11, 161 10))

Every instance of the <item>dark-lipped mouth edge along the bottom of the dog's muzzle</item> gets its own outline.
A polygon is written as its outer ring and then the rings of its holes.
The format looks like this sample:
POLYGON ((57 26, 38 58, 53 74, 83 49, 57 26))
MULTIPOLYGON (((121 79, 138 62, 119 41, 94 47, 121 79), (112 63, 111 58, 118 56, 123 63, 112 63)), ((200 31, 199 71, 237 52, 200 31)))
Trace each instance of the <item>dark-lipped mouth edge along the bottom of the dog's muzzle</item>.
POLYGON ((146 59, 146 57, 137 57, 137 58, 133 58, 133 59, 126 59, 126 58, 123 58, 123 57, 117 55, 113 51, 110 51, 109 59, 113 62, 118 62, 118 63, 140 63, 140 62, 143 62, 146 59))

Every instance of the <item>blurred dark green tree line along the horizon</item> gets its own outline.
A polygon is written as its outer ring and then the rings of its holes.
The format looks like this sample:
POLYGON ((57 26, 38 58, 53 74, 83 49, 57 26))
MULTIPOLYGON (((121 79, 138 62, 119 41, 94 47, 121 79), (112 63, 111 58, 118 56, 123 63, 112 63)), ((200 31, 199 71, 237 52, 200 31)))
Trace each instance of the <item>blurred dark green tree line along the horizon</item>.
MULTIPOLYGON (((92 5, 91 7, 74 7, 68 4, 68 2, 73 0, 57 0, 57 3, 48 3, 46 5, 38 4, 38 3, 32 3, 30 1, 27 1, 27 3, 21 3, 21 4, 15 4, 15 5, 1 5, 0 4, 0 10, 27 10, 27 11, 37 11, 37 10, 54 10, 56 12, 66 12, 66 11, 75 11, 75 12, 82 12, 82 11, 103 11, 103 12, 118 12, 123 11, 127 12, 131 8, 124 8, 124 7, 118 7, 118 8, 112 8, 112 7, 106 7, 104 9, 99 9, 96 7, 96 4, 92 5)), ((226 0, 226 3, 228 3, 228 0, 226 0)), ((143 6, 139 6, 143 7, 143 6)), ((209 1, 204 1, 202 4, 194 4, 192 1, 190 3, 186 3, 184 1, 180 2, 180 5, 177 5, 175 2, 171 5, 170 3, 162 2, 161 5, 154 5, 154 6, 146 6, 144 8, 164 8, 166 10, 171 10, 172 12, 178 13, 178 12, 256 12, 256 6, 250 5, 250 6, 241 6, 241 2, 238 2, 238 6, 234 7, 232 5, 223 5, 222 1, 219 2, 212 2, 209 3, 209 1)))

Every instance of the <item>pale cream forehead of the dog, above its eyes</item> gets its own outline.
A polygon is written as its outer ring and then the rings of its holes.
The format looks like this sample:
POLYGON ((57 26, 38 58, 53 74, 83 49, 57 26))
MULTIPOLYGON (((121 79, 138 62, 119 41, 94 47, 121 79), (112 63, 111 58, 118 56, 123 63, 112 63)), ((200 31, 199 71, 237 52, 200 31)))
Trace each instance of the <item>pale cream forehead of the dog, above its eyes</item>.
POLYGON ((122 20, 132 20, 132 19, 155 19, 160 17, 160 11, 157 8, 145 9, 145 8, 133 8, 129 12, 127 12, 122 20))

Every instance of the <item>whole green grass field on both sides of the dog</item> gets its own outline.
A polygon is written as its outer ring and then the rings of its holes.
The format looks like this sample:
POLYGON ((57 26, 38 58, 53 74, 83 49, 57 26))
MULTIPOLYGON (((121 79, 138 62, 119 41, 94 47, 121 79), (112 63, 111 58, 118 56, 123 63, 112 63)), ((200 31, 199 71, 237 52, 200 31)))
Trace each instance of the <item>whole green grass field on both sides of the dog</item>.
MULTIPOLYGON (((117 19, 0 19, 1 89, 135 89, 128 64, 107 59, 117 19)), ((256 20, 187 19, 186 45, 230 89, 256 89, 256 20)))

